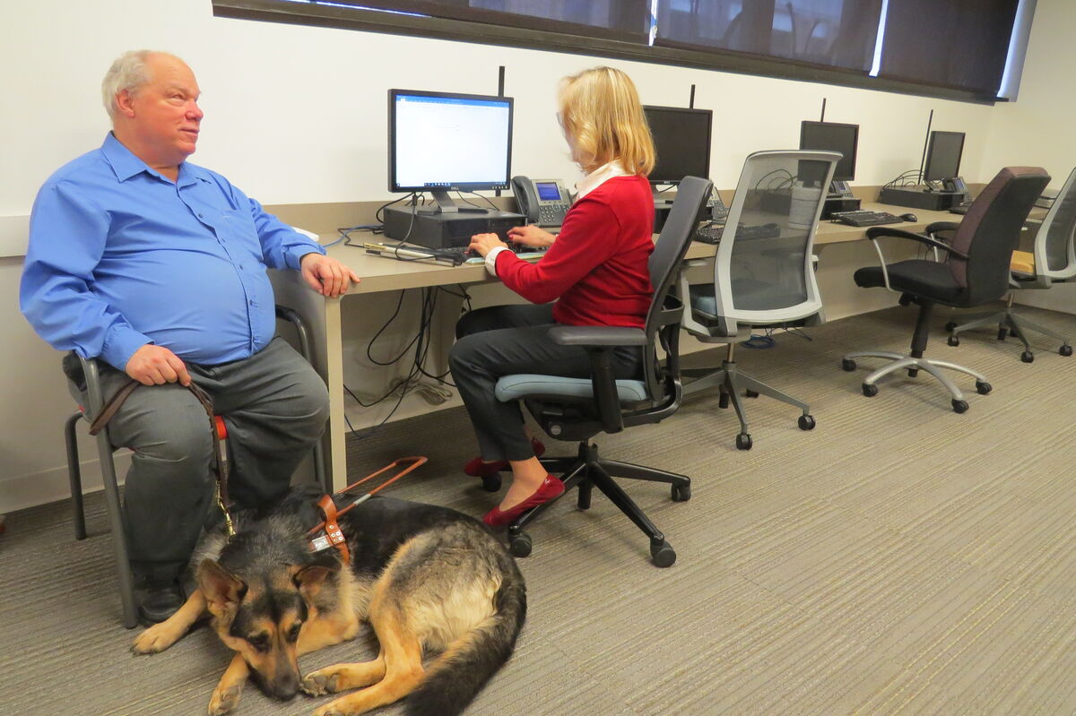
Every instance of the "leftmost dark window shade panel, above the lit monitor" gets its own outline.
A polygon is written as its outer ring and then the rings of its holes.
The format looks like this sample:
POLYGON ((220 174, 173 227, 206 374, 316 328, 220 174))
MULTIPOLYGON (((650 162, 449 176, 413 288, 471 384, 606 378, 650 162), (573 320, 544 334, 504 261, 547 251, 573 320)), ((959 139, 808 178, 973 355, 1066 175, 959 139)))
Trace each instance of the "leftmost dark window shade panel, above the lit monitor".
POLYGON ((647 42, 648 0, 335 0, 346 5, 419 13, 486 25, 502 25, 647 42))

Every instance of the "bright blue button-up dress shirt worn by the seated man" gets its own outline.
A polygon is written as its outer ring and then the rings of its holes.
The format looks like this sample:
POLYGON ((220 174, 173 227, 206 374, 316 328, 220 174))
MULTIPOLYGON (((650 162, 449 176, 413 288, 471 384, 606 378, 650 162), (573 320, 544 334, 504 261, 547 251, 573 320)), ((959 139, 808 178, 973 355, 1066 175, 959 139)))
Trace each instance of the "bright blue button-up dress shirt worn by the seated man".
POLYGON ((173 183, 110 132, 38 192, 19 306, 53 347, 119 370, 146 343, 214 366, 272 340, 266 267, 315 252, 220 174, 183 162, 173 183))

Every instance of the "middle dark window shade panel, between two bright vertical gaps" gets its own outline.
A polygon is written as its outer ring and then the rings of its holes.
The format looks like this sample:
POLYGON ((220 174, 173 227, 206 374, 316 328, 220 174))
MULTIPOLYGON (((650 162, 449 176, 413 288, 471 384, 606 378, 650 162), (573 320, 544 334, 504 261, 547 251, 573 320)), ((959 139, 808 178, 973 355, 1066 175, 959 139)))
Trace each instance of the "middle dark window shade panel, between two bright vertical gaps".
POLYGON ((881 0, 659 0, 655 44, 866 72, 881 0))

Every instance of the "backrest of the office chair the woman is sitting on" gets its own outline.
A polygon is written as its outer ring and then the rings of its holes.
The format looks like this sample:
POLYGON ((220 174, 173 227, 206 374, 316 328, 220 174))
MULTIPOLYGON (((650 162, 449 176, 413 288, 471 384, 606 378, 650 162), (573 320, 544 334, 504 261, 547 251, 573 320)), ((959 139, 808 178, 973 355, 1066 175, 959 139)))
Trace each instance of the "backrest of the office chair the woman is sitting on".
MULTIPOLYGON (((663 329, 671 329, 671 332, 679 330, 682 309, 679 305, 668 305, 672 300, 670 289, 691 245, 691 238, 703 218, 703 211, 706 209, 706 201, 710 198, 712 187, 709 180, 697 176, 685 176, 680 182, 672 209, 669 210, 665 226, 662 227, 662 232, 654 244, 654 252, 650 255, 650 284, 654 289, 654 296, 647 312, 646 332, 651 346, 655 345, 656 339, 662 338, 660 333, 663 329)), ((669 330, 666 330, 666 333, 668 332, 669 330)), ((666 344, 669 338, 666 335, 662 339, 663 344, 666 344)), ((671 338, 675 340, 675 336, 671 338)), ((665 348, 668 350, 667 345, 665 348)), ((645 352, 643 367, 651 399, 661 400, 665 389, 653 349, 645 352)))

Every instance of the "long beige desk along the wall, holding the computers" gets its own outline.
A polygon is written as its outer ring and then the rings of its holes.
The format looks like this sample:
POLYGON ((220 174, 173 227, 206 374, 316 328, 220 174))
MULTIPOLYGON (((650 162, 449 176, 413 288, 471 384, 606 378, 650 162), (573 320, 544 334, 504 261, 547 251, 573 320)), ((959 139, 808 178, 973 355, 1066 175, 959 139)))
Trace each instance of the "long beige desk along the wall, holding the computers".
MULTIPOLYGON (((911 211, 918 221, 891 225, 908 231, 921 231, 934 221, 959 221, 962 217, 949 212, 902 210, 877 203, 864 203, 863 209, 901 214, 911 211)), ((866 229, 822 221, 816 233, 815 244, 821 249, 827 244, 863 240, 866 229)), ((363 234, 356 234, 362 237, 363 234)), ((477 284, 496 281, 491 278, 482 264, 449 267, 420 261, 397 261, 367 254, 363 248, 339 244, 328 249, 329 255, 349 266, 362 277, 348 296, 397 291, 407 288, 428 288, 454 284, 477 284)), ((693 243, 688 257, 713 256, 714 246, 693 243)), ((302 284, 297 272, 270 272, 277 302, 288 305, 302 315, 312 333, 312 360, 325 380, 329 391, 329 424, 324 438, 325 463, 335 489, 346 485, 348 466, 345 441, 348 425, 344 416, 343 340, 341 331, 341 304, 343 299, 324 299, 302 284)))

